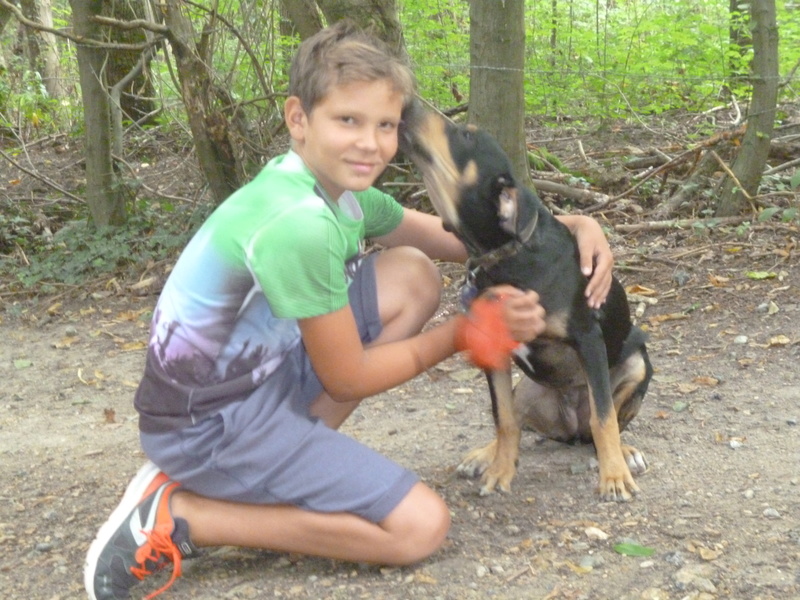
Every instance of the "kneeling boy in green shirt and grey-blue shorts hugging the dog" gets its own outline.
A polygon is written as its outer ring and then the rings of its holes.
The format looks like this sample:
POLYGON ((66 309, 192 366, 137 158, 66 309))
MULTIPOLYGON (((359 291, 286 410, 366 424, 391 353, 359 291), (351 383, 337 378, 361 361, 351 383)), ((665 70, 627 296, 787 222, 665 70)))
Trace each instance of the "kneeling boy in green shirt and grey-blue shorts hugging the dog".
MULTIPOLYGON (((423 333, 440 300, 432 259, 464 261, 433 216, 372 188, 397 150, 414 79, 340 23, 306 40, 284 116, 292 150, 225 201, 184 250, 153 316, 136 394, 137 473, 87 555, 90 598, 128 598, 202 546, 404 565, 440 547, 444 501, 337 431, 359 402, 455 351, 464 318, 423 333), (364 256, 375 239, 388 249, 364 256)), ((591 219, 565 218, 594 275, 611 254, 591 219)), ((517 341, 541 333, 533 292, 503 287, 517 341)), ((152 596, 151 596, 152 597, 152 596)))

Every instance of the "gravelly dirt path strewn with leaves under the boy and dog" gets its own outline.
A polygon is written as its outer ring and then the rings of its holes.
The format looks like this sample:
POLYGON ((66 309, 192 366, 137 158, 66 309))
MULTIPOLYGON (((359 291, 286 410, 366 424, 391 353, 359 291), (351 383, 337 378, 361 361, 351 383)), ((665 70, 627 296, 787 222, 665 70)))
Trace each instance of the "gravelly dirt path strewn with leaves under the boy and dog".
MULTIPOLYGON (((513 492, 478 496, 454 467, 491 438, 491 416, 480 374, 454 358, 347 424, 447 499, 441 552, 381 569, 217 549, 163 597, 800 598, 799 238, 776 227, 613 240, 625 284, 657 300, 639 318, 657 373, 623 434, 651 465, 633 502, 598 503, 590 448, 532 433, 513 492), (653 554, 620 554, 621 542, 653 554)), ((132 396, 154 301, 0 312, 0 597, 84 597, 88 544, 144 460, 132 396)))

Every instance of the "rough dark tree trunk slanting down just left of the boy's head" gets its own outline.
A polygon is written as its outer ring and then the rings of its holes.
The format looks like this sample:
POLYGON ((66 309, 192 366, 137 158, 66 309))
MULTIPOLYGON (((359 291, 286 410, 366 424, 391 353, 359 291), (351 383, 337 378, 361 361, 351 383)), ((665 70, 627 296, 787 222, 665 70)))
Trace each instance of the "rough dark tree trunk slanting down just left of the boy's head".
POLYGON ((167 0, 164 21, 169 27, 169 41, 200 170, 215 202, 220 203, 238 189, 241 169, 231 139, 230 121, 222 111, 213 108, 214 84, 194 42, 192 23, 182 12, 183 5, 180 0, 167 0))

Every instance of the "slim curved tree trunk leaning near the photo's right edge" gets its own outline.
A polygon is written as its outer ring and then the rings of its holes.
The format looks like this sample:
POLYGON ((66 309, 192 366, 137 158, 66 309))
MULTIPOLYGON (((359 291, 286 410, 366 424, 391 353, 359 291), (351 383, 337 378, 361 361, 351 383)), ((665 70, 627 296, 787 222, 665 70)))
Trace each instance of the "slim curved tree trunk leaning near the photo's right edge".
POLYGON ((752 0, 753 97, 747 113, 747 131, 732 171, 737 181, 726 177, 722 183, 716 215, 738 214, 755 196, 769 156, 778 102, 778 26, 775 0, 752 0))

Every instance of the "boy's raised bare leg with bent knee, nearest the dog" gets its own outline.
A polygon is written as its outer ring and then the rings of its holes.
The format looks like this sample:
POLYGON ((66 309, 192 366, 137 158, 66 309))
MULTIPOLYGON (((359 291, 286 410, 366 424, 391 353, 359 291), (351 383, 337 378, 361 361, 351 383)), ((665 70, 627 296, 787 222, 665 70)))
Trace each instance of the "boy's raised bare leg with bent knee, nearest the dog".
MULTIPOLYGON (((375 279, 383 329, 371 344, 406 339, 422 331, 441 300, 442 282, 436 265, 416 248, 390 248, 375 259, 375 279)), ((311 414, 338 429, 360 402, 336 402, 323 393, 312 405, 311 414)))

